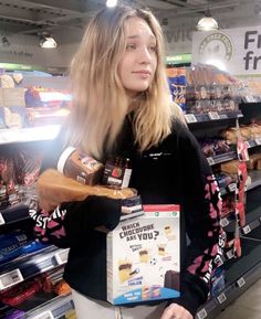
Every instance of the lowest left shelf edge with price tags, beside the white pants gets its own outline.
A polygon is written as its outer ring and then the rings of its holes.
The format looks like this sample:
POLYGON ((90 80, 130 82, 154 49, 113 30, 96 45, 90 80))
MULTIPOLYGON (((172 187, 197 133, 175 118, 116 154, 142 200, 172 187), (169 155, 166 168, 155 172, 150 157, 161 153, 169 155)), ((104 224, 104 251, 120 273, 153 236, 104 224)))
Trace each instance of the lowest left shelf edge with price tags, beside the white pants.
MULTIPOLYGON (((27 312, 28 319, 58 319, 74 309, 72 296, 58 296, 44 305, 27 312)), ((18 318, 19 319, 19 318, 18 318)))

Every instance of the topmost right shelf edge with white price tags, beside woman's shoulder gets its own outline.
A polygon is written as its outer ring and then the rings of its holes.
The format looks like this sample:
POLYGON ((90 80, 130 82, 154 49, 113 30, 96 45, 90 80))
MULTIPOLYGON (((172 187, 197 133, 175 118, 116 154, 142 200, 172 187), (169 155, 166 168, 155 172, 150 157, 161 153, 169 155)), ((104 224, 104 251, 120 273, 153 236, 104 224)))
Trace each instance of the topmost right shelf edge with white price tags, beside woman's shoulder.
POLYGON ((241 110, 237 111, 209 111, 206 114, 185 114, 187 124, 208 123, 212 120, 233 119, 242 117, 241 110))

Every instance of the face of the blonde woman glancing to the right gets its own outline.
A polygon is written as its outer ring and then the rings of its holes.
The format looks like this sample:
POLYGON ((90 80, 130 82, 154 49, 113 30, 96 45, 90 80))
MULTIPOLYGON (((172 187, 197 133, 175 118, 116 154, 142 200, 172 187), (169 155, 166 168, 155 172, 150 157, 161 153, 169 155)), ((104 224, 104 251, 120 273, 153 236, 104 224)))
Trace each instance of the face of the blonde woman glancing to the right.
POLYGON ((156 38, 145 20, 129 18, 125 22, 126 49, 118 72, 129 95, 146 91, 157 67, 156 38))

